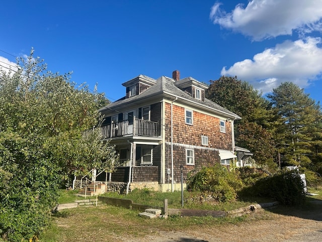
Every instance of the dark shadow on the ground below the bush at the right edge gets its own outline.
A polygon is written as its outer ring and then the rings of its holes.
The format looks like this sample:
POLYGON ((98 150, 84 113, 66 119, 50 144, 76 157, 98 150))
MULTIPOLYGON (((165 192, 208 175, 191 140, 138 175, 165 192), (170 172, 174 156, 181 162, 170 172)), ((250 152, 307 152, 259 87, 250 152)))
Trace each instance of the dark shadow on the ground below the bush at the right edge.
POLYGON ((297 206, 283 206, 269 208, 269 211, 281 215, 322 221, 322 200, 307 197, 305 202, 297 206))

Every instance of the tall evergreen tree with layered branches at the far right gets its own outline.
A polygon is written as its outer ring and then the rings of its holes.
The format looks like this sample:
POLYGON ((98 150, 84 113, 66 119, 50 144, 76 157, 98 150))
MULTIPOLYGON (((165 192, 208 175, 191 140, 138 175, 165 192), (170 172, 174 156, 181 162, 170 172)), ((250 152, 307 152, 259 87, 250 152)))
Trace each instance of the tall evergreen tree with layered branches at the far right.
POLYGON ((281 155, 286 164, 309 167, 320 155, 321 111, 308 94, 296 84, 282 83, 267 96, 283 121, 278 128, 281 155))

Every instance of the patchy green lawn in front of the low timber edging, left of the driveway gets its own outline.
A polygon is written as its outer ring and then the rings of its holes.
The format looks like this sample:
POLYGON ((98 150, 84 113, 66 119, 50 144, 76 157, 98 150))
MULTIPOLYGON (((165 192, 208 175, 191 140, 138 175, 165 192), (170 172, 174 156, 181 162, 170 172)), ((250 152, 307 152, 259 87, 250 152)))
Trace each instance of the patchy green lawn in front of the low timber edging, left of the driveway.
POLYGON ((180 217, 146 219, 138 212, 121 207, 78 207, 63 210, 52 216, 52 224, 40 234, 39 241, 116 241, 121 238, 139 238, 158 231, 199 230, 226 223, 237 224, 246 217, 213 218, 180 217))

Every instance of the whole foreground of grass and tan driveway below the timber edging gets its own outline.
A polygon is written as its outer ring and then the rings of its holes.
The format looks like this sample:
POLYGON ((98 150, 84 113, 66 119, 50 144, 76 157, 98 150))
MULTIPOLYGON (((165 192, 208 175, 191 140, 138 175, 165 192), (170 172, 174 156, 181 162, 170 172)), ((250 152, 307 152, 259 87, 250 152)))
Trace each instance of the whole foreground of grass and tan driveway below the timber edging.
POLYGON ((307 241, 307 236, 320 236, 322 231, 322 201, 317 198, 309 197, 303 206, 280 206, 237 218, 146 219, 137 211, 107 205, 75 208, 53 216, 40 241, 307 241))

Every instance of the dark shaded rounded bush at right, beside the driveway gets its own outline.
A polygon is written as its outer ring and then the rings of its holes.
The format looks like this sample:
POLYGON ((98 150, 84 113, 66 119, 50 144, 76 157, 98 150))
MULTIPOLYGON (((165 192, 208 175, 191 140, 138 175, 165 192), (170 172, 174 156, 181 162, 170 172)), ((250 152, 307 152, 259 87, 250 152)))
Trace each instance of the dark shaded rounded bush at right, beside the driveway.
POLYGON ((295 170, 282 170, 261 178, 253 186, 241 190, 240 194, 266 197, 284 205, 301 204, 305 198, 303 181, 295 170))

